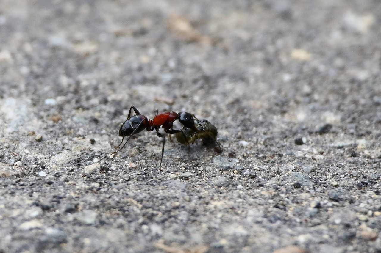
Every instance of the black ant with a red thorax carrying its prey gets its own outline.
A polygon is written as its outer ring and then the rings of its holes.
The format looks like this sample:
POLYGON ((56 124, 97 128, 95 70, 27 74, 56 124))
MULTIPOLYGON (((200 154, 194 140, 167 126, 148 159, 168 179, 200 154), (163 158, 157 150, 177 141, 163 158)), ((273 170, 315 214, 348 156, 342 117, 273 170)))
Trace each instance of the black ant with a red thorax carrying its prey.
MULTIPOLYGON (((162 133, 159 132, 160 126, 163 127, 164 132, 168 134, 177 134, 182 132, 181 129, 172 129, 173 122, 179 120, 179 122, 187 128, 195 130, 194 117, 190 113, 181 111, 176 113, 174 111, 165 111, 163 113, 158 114, 158 110, 153 119, 148 119, 146 116, 141 115, 136 107, 131 106, 130 111, 128 112, 128 116, 125 122, 123 122, 122 126, 119 129, 119 136, 122 137, 122 141, 116 147, 119 148, 122 145, 124 137, 128 136, 128 139, 122 146, 126 145, 128 140, 130 140, 131 136, 134 134, 138 134, 142 130, 146 129, 147 131, 156 130, 156 134, 158 137, 163 138, 163 148, 162 148, 162 158, 160 159, 160 167, 162 167, 163 154, 164 154, 164 145, 165 145, 165 137, 162 133), (134 116, 131 116, 131 110, 134 110, 134 116)), ((197 119, 196 119, 197 120, 197 119)), ((119 148, 114 153, 119 152, 122 148, 119 148)))

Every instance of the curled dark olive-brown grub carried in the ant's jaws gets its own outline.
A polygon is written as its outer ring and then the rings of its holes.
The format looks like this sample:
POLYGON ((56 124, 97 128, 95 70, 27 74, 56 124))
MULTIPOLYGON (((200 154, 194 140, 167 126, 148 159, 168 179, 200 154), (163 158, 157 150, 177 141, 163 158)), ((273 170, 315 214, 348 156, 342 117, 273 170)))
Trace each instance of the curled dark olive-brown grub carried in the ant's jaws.
POLYGON ((217 153, 222 153, 221 145, 219 145, 219 143, 216 140, 218 133, 217 127, 215 127, 206 119, 202 119, 200 121, 197 118, 195 119, 199 124, 194 124, 194 129, 191 129, 186 126, 182 127, 181 132, 176 134, 177 141, 182 144, 188 145, 190 143, 193 144, 197 139, 202 139, 203 143, 209 143, 213 140, 218 145, 218 147, 215 147, 215 151, 217 153))

